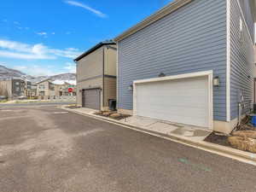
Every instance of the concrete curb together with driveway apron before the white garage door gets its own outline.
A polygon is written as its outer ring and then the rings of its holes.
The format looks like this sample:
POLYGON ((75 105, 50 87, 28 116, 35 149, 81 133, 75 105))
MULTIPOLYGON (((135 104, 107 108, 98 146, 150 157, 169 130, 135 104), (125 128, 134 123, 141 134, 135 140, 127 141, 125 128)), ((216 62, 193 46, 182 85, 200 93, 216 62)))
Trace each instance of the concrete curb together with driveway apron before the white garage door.
POLYGON ((79 113, 91 118, 108 121, 109 123, 121 125, 135 131, 141 131, 156 137, 166 138, 168 140, 172 140, 173 142, 183 143, 193 148, 199 148, 214 154, 219 154, 234 160, 240 160, 256 166, 256 154, 244 152, 235 148, 220 146, 218 144, 204 142, 204 139, 211 134, 212 131, 203 130, 199 127, 174 124, 168 121, 138 116, 131 116, 126 119, 115 120, 96 115, 94 113, 97 111, 90 108, 71 109, 67 108, 67 106, 62 106, 61 108, 73 113, 79 113))

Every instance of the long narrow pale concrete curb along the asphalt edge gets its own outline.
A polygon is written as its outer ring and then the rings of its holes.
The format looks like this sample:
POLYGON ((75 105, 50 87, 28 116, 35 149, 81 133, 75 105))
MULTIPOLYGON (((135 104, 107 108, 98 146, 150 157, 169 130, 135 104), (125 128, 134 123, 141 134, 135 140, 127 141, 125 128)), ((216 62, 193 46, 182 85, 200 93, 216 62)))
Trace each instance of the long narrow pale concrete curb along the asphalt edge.
POLYGON ((214 144, 214 143, 207 143, 207 142, 204 142, 203 140, 198 139, 198 138, 191 139, 191 137, 186 137, 186 136, 183 136, 183 135, 177 135, 177 134, 173 133, 172 131, 169 134, 160 133, 158 131, 150 131, 148 129, 145 129, 145 127, 140 127, 138 125, 132 125, 132 124, 129 124, 129 123, 124 122, 124 121, 109 119, 109 118, 106 118, 106 117, 96 115, 92 112, 85 113, 84 111, 86 111, 86 110, 70 109, 70 108, 65 108, 65 106, 62 106, 61 108, 64 109, 64 110, 73 112, 73 113, 82 114, 86 117, 99 119, 99 120, 102 120, 102 121, 106 121, 108 123, 113 123, 115 125, 121 125, 122 127, 131 129, 131 130, 134 130, 134 131, 140 131, 140 132, 147 133, 147 134, 155 136, 155 137, 161 137, 161 138, 170 140, 172 142, 182 143, 182 144, 185 144, 189 147, 198 148, 198 149, 205 150, 205 151, 213 153, 213 154, 222 155, 224 157, 228 157, 228 158, 233 159, 233 160, 239 160, 241 162, 256 166, 256 154, 252 154, 252 153, 249 153, 249 152, 244 152, 244 151, 241 151, 241 150, 238 150, 238 149, 235 149, 235 148, 224 147, 224 146, 214 144))

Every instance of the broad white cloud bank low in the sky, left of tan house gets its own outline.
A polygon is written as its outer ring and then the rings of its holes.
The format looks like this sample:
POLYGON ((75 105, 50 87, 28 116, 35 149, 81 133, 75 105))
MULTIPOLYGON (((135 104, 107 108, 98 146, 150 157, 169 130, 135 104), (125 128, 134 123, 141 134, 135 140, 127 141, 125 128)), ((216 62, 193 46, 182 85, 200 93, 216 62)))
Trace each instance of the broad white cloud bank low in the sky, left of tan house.
POLYGON ((0 56, 15 59, 43 60, 57 57, 75 58, 80 55, 79 49, 51 49, 44 44, 23 44, 0 39, 0 56))

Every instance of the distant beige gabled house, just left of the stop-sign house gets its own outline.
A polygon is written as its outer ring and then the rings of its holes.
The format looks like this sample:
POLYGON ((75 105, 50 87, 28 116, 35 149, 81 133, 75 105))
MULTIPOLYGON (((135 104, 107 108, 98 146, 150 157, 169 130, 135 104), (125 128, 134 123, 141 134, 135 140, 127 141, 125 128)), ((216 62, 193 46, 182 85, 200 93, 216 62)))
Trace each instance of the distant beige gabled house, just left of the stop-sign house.
POLYGON ((37 95, 39 99, 53 99, 55 97, 55 84, 49 79, 38 82, 37 95))

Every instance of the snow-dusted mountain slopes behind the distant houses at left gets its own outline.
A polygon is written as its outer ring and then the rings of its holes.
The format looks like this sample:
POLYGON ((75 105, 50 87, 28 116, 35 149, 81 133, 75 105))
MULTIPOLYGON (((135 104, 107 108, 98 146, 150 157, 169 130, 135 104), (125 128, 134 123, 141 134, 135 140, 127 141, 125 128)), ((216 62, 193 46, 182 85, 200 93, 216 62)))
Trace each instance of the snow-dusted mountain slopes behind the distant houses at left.
POLYGON ((32 76, 32 75, 26 75, 26 73, 22 73, 18 70, 11 69, 8 67, 4 67, 3 65, 0 65, 0 80, 3 79, 12 79, 12 78, 21 78, 21 79, 27 79, 29 81, 32 81, 33 83, 40 82, 44 79, 50 79, 52 81, 55 80, 75 80, 76 74, 75 73, 61 73, 53 76, 32 76))

